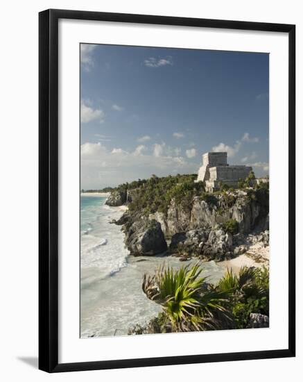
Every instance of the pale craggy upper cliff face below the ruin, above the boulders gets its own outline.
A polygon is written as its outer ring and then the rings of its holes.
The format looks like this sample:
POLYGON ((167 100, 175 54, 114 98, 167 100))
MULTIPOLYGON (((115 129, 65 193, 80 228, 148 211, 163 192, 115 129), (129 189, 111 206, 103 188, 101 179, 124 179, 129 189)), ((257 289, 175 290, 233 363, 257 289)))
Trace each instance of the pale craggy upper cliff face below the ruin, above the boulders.
POLYGON ((174 200, 168 205, 167 214, 153 213, 162 226, 166 238, 175 233, 193 229, 219 229, 231 219, 237 222, 239 232, 247 235, 254 230, 268 228, 268 201, 263 201, 266 190, 256 190, 252 195, 243 190, 226 194, 209 194, 194 197, 191 206, 182 206, 174 200))

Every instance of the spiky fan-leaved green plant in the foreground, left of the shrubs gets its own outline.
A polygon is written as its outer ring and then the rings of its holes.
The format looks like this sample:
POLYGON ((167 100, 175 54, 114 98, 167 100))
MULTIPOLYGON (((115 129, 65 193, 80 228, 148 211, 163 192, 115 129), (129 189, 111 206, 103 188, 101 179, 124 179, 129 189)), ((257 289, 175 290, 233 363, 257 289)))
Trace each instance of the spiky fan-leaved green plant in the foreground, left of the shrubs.
POLYGON ((198 264, 176 271, 162 266, 153 276, 144 275, 142 288, 163 306, 172 331, 215 329, 223 316, 229 317, 227 294, 212 288, 207 277, 200 276, 202 270, 198 264))

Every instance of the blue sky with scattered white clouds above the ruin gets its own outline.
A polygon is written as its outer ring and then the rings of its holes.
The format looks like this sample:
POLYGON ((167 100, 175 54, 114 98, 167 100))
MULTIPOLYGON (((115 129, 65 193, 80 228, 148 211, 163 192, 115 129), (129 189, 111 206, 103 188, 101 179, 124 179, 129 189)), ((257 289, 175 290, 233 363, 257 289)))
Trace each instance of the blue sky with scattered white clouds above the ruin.
POLYGON ((268 174, 267 53, 80 44, 81 188, 197 173, 202 154, 268 174))

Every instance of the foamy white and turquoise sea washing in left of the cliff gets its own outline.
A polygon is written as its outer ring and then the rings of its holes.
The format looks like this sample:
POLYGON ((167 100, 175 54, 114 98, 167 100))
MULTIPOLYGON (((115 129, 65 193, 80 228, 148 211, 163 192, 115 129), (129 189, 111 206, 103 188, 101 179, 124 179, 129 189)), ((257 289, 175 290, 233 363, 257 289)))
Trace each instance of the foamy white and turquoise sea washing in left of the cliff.
MULTIPOLYGON (((105 205, 106 197, 81 196, 80 205, 80 336, 81 338, 127 335, 130 326, 145 324, 161 306, 141 290, 145 272, 162 263, 179 268, 172 256, 129 256, 121 226, 110 224, 123 213, 105 205)), ((224 268, 204 263, 205 275, 216 282, 224 268)))

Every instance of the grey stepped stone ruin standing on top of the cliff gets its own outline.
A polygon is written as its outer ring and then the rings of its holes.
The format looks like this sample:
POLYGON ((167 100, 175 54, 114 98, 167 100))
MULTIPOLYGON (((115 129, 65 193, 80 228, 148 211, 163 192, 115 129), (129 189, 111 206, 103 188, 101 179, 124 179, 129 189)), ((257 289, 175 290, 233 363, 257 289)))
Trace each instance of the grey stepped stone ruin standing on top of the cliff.
POLYGON ((252 171, 250 166, 228 165, 225 152, 205 153, 202 156, 202 166, 198 171, 196 182, 205 183, 207 192, 219 190, 222 183, 236 188, 239 179, 247 178, 250 171, 252 171))

